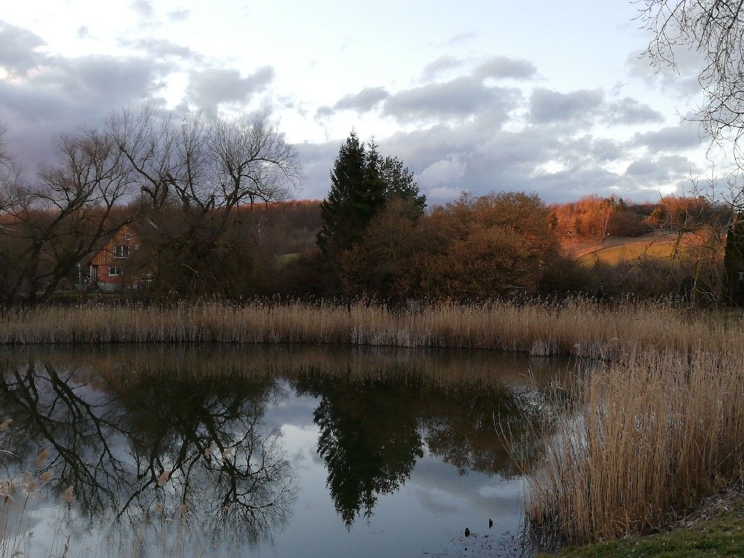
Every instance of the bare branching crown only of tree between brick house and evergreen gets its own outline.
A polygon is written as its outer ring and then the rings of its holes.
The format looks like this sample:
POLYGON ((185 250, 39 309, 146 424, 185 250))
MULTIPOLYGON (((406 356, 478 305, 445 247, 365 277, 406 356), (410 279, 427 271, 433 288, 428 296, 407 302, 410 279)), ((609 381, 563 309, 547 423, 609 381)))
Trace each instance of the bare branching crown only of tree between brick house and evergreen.
POLYGON ((286 199, 298 180, 295 151, 265 114, 177 123, 146 107, 115 115, 111 129, 156 208, 173 198, 185 208, 231 211, 286 199))

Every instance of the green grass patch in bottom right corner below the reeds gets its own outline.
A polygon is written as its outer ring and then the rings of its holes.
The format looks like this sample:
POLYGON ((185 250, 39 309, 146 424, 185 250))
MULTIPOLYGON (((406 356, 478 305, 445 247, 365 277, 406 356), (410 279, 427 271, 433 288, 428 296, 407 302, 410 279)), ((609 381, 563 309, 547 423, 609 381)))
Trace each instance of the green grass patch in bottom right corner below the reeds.
POLYGON ((689 529, 564 548, 552 558, 744 557, 744 499, 728 511, 689 529))

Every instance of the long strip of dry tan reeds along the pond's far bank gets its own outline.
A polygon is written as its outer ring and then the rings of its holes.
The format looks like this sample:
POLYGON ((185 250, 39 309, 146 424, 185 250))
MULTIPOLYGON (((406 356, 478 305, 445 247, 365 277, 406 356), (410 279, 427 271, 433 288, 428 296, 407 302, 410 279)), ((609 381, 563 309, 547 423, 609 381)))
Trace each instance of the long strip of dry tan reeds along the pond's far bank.
POLYGON ((468 347, 607 358, 640 348, 719 350, 744 345, 744 318, 691 314, 669 304, 608 309, 563 304, 441 304, 420 312, 373 304, 174 304, 170 307, 36 307, 0 314, 0 344, 344 343, 468 347))

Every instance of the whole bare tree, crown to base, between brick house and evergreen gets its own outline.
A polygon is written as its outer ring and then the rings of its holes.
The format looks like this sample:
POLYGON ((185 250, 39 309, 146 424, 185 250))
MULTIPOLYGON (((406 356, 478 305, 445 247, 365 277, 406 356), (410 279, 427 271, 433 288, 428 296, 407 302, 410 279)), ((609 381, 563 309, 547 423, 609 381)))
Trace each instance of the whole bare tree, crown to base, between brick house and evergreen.
POLYGON ((235 295, 226 264, 251 251, 238 238, 240 208, 286 199, 299 177, 292 145, 265 114, 176 122, 125 110, 111 130, 141 187, 153 288, 235 295))

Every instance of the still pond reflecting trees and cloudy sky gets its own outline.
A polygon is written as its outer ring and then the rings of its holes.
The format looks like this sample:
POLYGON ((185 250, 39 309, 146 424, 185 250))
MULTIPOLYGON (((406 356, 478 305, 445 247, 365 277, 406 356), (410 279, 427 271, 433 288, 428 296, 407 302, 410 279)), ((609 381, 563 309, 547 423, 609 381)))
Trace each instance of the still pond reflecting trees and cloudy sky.
POLYGON ((2 556, 405 557, 530 554, 503 432, 529 458, 567 365, 199 345, 5 347, 0 367, 2 556))

